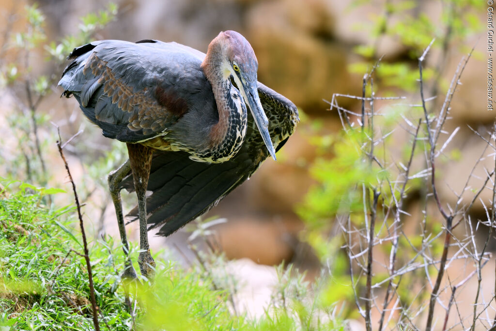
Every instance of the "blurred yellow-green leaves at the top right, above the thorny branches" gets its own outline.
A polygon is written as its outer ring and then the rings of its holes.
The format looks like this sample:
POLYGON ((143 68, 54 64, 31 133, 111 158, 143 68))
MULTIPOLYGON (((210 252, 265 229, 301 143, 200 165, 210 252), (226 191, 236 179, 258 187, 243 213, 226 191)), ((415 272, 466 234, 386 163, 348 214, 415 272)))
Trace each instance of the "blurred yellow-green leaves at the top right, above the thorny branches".
MULTIPOLYGON (((360 5, 363 1, 354 1, 354 5, 360 5)), ((433 12, 419 12, 416 1, 374 1, 383 5, 384 13, 371 15, 369 20, 361 22, 357 26, 360 31, 369 32, 369 40, 372 42, 358 45, 354 51, 364 58, 363 61, 353 63, 349 66, 351 72, 363 74, 370 71, 377 60, 383 56, 378 54, 379 45, 384 38, 397 43, 397 48, 405 49, 406 59, 396 59, 394 62, 381 61, 376 69, 377 81, 381 87, 394 87, 407 92, 418 89, 418 58, 422 55, 429 43, 435 39, 434 48, 443 52, 447 48, 444 44, 465 40, 483 29, 479 19, 479 13, 483 2, 473 0, 449 0, 443 4, 436 3, 441 7, 438 17, 433 17, 433 12), (441 23, 441 24, 439 24, 441 23), (371 26, 372 25, 372 26, 371 26)), ((466 45, 462 43, 459 47, 466 45)), ((470 47, 471 48, 471 47, 470 47)), ((436 68, 438 69, 438 68, 436 68)), ((430 81, 434 77, 434 71, 424 71, 424 80, 430 81)), ((442 81, 445 90, 447 83, 442 81)))

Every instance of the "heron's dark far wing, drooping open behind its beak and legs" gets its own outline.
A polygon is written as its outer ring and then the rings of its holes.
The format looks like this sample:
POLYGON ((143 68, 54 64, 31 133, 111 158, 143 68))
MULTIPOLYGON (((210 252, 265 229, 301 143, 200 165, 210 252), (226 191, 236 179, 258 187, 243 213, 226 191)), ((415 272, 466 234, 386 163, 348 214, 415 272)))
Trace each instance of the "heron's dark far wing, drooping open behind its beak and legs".
MULTIPOLYGON (((269 132, 276 151, 293 133, 298 122, 296 106, 268 87, 259 84, 262 107, 269 118, 269 132)), ((186 223, 208 211, 236 187, 245 182, 269 154, 248 115, 248 132, 240 151, 223 163, 194 162, 185 152, 157 152, 152 168, 147 198, 149 228, 160 227, 159 235, 168 236, 186 223)), ((132 175, 121 186, 133 191, 132 175)), ((137 219, 134 208, 127 216, 137 219)))

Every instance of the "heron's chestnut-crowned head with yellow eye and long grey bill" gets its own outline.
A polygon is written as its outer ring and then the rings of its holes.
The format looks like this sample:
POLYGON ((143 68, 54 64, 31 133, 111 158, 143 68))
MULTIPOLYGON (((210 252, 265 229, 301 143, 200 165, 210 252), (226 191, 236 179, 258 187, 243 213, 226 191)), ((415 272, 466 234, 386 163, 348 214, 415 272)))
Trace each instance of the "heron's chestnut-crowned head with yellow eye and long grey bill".
POLYGON ((211 83, 213 79, 210 77, 214 76, 221 77, 224 81, 234 81, 253 115, 270 155, 275 160, 275 151, 268 132, 269 121, 258 96, 258 61, 248 40, 236 31, 220 32, 208 45, 202 67, 211 83))

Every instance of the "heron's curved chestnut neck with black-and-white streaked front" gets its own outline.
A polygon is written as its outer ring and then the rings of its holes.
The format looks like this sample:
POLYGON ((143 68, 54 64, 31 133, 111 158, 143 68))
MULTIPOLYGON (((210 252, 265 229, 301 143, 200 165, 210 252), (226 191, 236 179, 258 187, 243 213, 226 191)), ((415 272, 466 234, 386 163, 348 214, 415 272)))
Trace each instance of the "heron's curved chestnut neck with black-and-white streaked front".
POLYGON ((212 162, 224 162, 236 155, 245 140, 247 109, 239 90, 225 72, 227 68, 221 61, 206 62, 207 59, 208 56, 202 68, 212 86, 219 112, 219 121, 209 132, 209 148, 212 151, 212 162))

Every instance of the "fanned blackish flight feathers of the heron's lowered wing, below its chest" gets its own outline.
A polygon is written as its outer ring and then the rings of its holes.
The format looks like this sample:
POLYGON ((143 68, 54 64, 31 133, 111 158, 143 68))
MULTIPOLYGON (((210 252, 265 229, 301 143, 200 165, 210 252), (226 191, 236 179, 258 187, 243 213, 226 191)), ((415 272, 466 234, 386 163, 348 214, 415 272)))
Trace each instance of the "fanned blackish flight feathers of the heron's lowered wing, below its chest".
MULTIPOLYGON (((159 152, 152 160, 148 185, 152 191, 146 201, 149 229, 160 227, 163 236, 177 231, 243 183, 249 176, 244 172, 253 167, 246 154, 237 162, 207 164, 192 161, 186 152, 159 152)), ((123 185, 134 190, 131 174, 123 185)), ((127 216, 137 219, 137 208, 127 216)))

